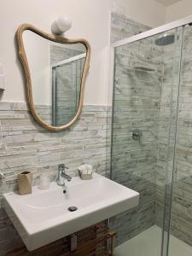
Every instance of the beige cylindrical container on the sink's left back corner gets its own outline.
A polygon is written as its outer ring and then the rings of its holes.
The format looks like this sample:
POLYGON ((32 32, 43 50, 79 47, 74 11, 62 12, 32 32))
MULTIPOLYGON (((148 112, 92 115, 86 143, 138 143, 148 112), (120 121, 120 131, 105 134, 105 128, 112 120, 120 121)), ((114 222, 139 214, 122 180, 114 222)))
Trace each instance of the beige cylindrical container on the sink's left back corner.
POLYGON ((17 178, 20 195, 32 194, 32 172, 21 172, 17 178))

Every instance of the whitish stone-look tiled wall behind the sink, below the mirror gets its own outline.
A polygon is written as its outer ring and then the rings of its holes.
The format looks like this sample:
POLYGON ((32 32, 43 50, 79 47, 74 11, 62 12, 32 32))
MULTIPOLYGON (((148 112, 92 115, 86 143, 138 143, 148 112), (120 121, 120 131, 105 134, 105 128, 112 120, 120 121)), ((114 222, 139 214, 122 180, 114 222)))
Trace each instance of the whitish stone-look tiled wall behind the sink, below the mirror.
POLYGON ((107 107, 84 106, 67 131, 50 132, 34 121, 26 104, 1 102, 0 171, 5 180, 0 184, 0 255, 21 242, 2 207, 2 194, 16 189, 17 173, 32 171, 34 183, 38 183, 40 172, 53 180, 59 163, 65 163, 69 174, 75 176, 77 167, 87 162, 105 175, 106 119, 107 107))

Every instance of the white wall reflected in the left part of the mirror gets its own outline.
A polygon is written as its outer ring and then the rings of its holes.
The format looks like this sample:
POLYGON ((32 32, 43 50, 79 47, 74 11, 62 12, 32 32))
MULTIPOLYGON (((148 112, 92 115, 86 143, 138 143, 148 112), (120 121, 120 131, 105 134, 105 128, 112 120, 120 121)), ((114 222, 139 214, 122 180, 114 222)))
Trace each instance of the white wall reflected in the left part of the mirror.
POLYGON ((33 102, 35 105, 50 105, 50 42, 27 30, 23 33, 23 41, 32 79, 33 102))

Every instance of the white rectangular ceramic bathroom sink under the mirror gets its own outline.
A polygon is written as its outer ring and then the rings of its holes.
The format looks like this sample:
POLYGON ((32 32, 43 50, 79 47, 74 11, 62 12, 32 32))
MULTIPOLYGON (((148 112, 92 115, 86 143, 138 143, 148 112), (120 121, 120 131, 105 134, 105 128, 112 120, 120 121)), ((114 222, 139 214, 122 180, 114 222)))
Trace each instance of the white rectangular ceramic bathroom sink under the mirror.
POLYGON ((33 187, 31 195, 3 195, 5 211, 29 251, 137 207, 139 201, 136 191, 99 174, 86 181, 73 177, 65 189, 50 183, 46 190, 33 187))

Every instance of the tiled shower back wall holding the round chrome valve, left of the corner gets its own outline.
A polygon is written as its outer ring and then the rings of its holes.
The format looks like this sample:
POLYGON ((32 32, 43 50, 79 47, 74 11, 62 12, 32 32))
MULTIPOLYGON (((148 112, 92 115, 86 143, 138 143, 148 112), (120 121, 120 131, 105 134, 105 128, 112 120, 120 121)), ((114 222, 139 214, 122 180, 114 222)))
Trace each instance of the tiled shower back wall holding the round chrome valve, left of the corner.
MULTIPOLYGON (((111 42, 148 30, 112 15, 111 42)), ((116 49, 113 96, 113 180, 140 193, 139 206, 111 219, 117 244, 154 224, 157 131, 160 113, 160 48, 151 39, 116 49), (143 67, 143 68, 141 68, 143 67), (147 68, 147 69, 146 69, 147 68), (132 138, 139 129, 140 141, 132 138)))

